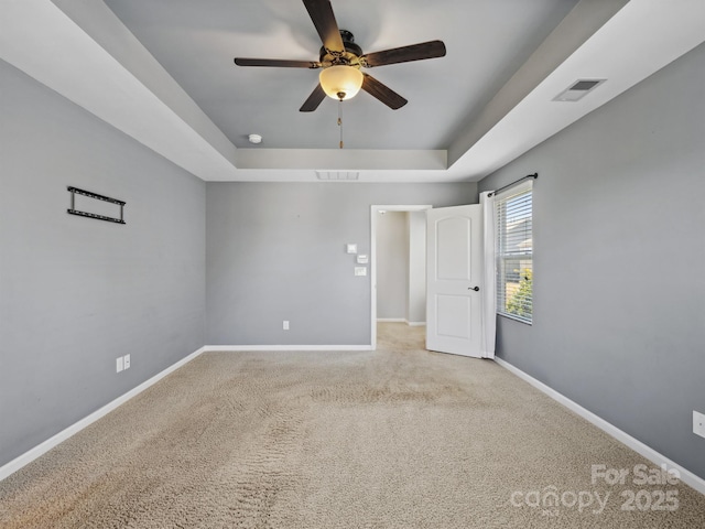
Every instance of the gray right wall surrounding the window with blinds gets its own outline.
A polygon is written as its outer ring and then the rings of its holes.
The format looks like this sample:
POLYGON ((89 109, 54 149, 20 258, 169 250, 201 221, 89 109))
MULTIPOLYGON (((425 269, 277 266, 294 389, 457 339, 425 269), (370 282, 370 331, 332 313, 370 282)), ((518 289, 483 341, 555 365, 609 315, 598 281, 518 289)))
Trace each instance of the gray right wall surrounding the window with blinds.
POLYGON ((701 45, 480 191, 539 172, 534 323, 498 356, 705 478, 703 86, 701 45))

